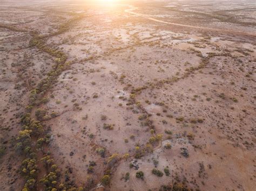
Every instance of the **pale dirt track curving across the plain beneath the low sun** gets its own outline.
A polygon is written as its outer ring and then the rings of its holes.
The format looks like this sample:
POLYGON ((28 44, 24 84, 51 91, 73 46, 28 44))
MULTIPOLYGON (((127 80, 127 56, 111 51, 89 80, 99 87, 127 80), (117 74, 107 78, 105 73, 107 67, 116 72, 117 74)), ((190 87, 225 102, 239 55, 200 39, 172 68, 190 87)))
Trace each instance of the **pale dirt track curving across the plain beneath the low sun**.
POLYGON ((132 15, 136 15, 139 17, 143 17, 146 19, 149 19, 151 21, 156 21, 159 23, 165 23, 165 24, 171 24, 171 25, 176 25, 176 26, 184 26, 187 28, 192 28, 192 29, 201 29, 201 30, 211 30, 211 31, 219 31, 219 32, 229 32, 229 33, 234 33, 234 34, 239 34, 239 35, 247 35, 247 36, 253 36, 256 37, 255 33, 247 33, 247 32, 241 32, 241 31, 234 31, 234 30, 225 30, 225 29, 213 29, 213 28, 207 28, 207 27, 203 27, 203 26, 193 26, 193 25, 185 25, 185 24, 178 24, 178 23, 171 23, 171 22, 166 22, 166 21, 161 21, 159 19, 156 18, 152 18, 146 14, 141 14, 141 13, 136 13, 133 12, 134 10, 137 10, 138 8, 132 6, 132 5, 128 5, 130 7, 130 9, 126 9, 125 12, 131 13, 132 15))

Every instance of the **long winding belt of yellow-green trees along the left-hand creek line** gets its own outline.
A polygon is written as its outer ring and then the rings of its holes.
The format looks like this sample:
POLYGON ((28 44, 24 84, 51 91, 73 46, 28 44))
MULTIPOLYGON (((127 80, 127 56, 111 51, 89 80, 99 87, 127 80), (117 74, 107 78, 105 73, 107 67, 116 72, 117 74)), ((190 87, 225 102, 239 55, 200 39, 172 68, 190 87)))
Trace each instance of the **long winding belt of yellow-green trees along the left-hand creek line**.
MULTIPOLYGON (((48 72, 47 77, 41 80, 37 87, 30 92, 30 105, 26 106, 26 109, 28 111, 31 111, 33 105, 46 103, 48 101, 43 99, 36 103, 38 98, 42 98, 46 90, 48 90, 52 86, 52 84, 57 81, 59 74, 63 70, 68 69, 69 65, 71 64, 70 62, 66 62, 68 57, 64 52, 57 49, 52 49, 51 47, 47 46, 44 38, 59 35, 60 33, 65 32, 70 28, 70 25, 73 22, 77 21, 82 17, 83 15, 79 15, 70 19, 68 22, 60 25, 57 32, 50 35, 40 36, 38 35, 38 33, 31 33, 32 39, 29 42, 30 46, 36 46, 39 50, 49 53, 51 56, 55 57, 56 65, 54 65, 53 69, 48 72)), ((36 111, 36 117, 38 120, 44 120, 45 116, 46 111, 36 111)), ((37 182, 36 178, 38 173, 38 161, 36 159, 36 151, 38 151, 38 148, 40 149, 44 143, 48 143, 50 141, 50 135, 44 134, 44 129, 40 121, 32 119, 30 113, 26 113, 22 117, 21 122, 23 124, 23 129, 18 134, 18 142, 15 146, 15 149, 19 154, 24 154, 27 157, 25 160, 22 161, 21 165, 21 173, 25 176, 26 180, 23 191, 36 190, 37 188, 35 187, 35 185, 37 182), (32 144, 32 137, 37 140, 36 144, 32 144)), ((44 167, 46 169, 46 172, 48 173, 44 176, 43 179, 40 180, 40 182, 45 185, 45 190, 84 190, 84 188, 82 187, 74 188, 69 185, 64 185, 63 183, 57 185, 59 170, 53 159, 51 159, 50 155, 43 156, 41 162, 44 163, 44 167)))

